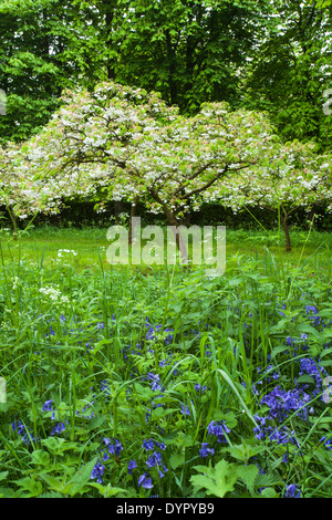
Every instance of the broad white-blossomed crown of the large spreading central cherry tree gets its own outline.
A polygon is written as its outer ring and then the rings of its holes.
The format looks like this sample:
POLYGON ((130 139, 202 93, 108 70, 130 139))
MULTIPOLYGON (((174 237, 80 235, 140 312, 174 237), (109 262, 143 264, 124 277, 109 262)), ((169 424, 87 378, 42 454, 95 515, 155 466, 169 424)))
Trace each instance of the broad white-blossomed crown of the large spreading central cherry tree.
POLYGON ((63 101, 15 163, 20 178, 29 171, 52 184, 53 204, 82 194, 132 204, 139 197, 178 227, 188 207, 207 199, 274 207, 297 197, 302 204, 303 189, 313 198, 321 186, 313 152, 282 145, 261 113, 206 103, 195 117, 184 117, 157 94, 115 83, 66 92, 63 101), (289 184, 290 175, 298 180, 289 184))

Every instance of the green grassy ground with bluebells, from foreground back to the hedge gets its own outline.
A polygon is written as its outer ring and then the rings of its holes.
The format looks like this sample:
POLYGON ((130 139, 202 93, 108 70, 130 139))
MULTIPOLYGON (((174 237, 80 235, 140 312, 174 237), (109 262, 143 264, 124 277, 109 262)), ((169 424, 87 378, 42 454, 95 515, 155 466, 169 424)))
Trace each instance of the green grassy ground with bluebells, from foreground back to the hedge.
POLYGON ((227 230, 207 279, 2 230, 0 497, 330 498, 332 233, 283 241, 227 230))

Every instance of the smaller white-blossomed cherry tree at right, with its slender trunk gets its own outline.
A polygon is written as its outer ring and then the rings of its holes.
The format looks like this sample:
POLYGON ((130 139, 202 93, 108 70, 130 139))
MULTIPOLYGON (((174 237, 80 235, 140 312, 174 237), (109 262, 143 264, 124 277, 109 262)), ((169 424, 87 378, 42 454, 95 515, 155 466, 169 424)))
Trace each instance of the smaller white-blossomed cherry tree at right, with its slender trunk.
POLYGON ((280 146, 261 168, 226 179, 218 191, 206 194, 234 210, 258 206, 279 215, 286 236, 286 250, 291 250, 289 217, 299 208, 310 211, 324 204, 332 211, 331 154, 319 155, 313 144, 292 142, 280 146))

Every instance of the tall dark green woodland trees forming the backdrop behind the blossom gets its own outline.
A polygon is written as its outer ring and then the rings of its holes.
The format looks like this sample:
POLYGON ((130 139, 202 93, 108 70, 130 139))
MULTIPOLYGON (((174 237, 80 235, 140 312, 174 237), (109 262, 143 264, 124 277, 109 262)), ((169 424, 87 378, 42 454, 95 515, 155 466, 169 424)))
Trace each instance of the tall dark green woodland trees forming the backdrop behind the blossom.
POLYGON ((160 92, 186 115, 206 102, 266 110, 286 138, 329 148, 331 4, 289 0, 3 0, 0 139, 22 142, 66 87, 160 92))

